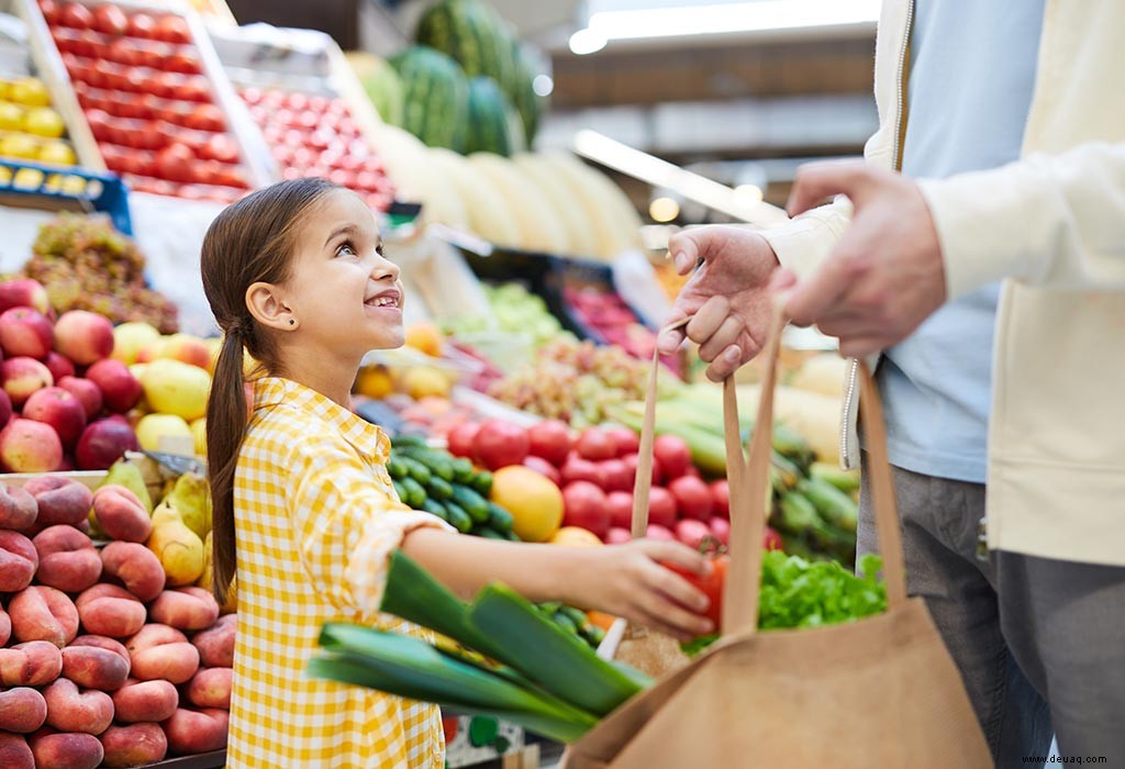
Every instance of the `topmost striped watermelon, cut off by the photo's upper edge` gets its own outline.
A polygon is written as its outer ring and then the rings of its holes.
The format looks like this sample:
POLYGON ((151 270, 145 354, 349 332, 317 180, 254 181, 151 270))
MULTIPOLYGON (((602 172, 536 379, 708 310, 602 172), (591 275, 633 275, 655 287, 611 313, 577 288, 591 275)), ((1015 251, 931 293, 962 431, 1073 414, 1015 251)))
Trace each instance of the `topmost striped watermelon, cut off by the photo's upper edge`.
POLYGON ((439 0, 422 15, 414 37, 449 55, 469 78, 492 78, 512 96, 513 36, 492 6, 482 0, 439 0))

